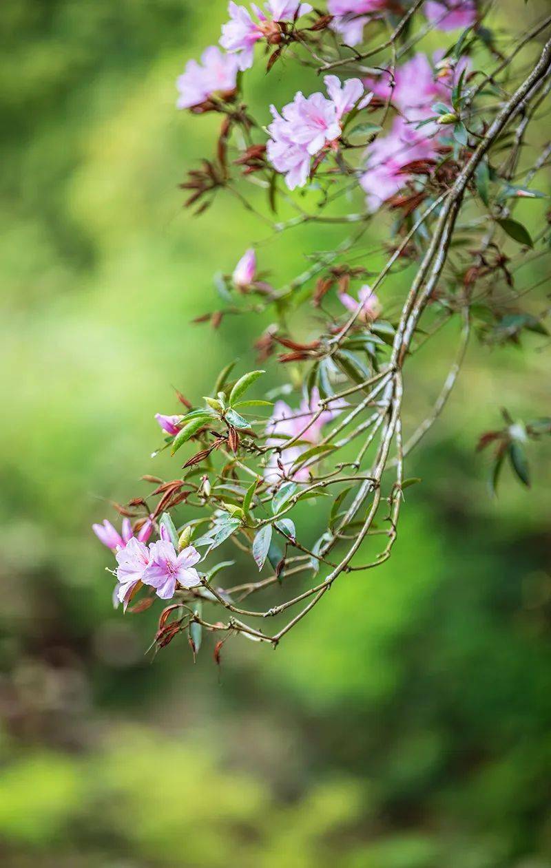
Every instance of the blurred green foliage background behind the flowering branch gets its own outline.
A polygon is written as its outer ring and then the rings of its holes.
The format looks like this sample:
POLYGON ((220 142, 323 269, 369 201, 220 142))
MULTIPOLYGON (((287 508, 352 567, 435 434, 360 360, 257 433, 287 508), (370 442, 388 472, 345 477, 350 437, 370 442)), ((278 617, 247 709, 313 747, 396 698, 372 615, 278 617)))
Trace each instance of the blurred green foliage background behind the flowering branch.
MULTIPOLYGON (((501 20, 520 29, 545 5, 502 3, 501 20)), ((545 340, 471 347, 408 464, 423 484, 408 491, 394 556, 337 583, 275 654, 236 638, 219 672, 207 639, 195 666, 183 642, 152 663, 158 611, 111 608, 110 555, 90 524, 113 519, 107 499, 144 493, 143 473, 172 477, 169 459, 149 458, 154 413, 177 411, 171 385, 197 400, 230 358, 250 367, 261 330, 228 319, 213 338, 189 325, 216 308, 213 273, 269 235, 223 195, 193 220, 177 189, 211 153, 216 121, 176 112, 174 80, 216 42, 224 6, 0 10, 0 863, 544 868, 548 450, 531 452, 532 490, 507 473, 495 501, 474 447, 501 405, 548 415, 545 340)), ((281 63, 254 73, 246 96, 268 121, 269 100, 296 83, 281 63)), ((342 237, 289 233, 260 248, 262 268, 282 284, 342 237)), ((409 427, 457 332, 412 365, 409 427)), ((306 520, 314 532, 315 509, 306 520)))

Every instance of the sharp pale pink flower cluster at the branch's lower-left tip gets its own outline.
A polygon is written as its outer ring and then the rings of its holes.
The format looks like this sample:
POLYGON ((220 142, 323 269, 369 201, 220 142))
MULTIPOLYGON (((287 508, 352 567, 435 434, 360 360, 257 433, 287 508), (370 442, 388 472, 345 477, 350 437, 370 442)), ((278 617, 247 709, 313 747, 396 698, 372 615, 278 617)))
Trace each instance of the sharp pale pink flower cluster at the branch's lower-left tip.
POLYGON ((163 525, 161 538, 150 542, 149 547, 145 543, 153 527, 150 520, 143 524, 137 536, 134 536, 128 518, 123 519, 122 534, 118 534, 107 520, 92 527, 100 542, 115 552, 117 582, 113 602, 115 606, 123 603, 124 611, 143 585, 154 588, 162 600, 170 600, 176 589, 196 588, 201 584, 201 576, 195 569, 201 555, 192 545, 176 552, 163 525))

